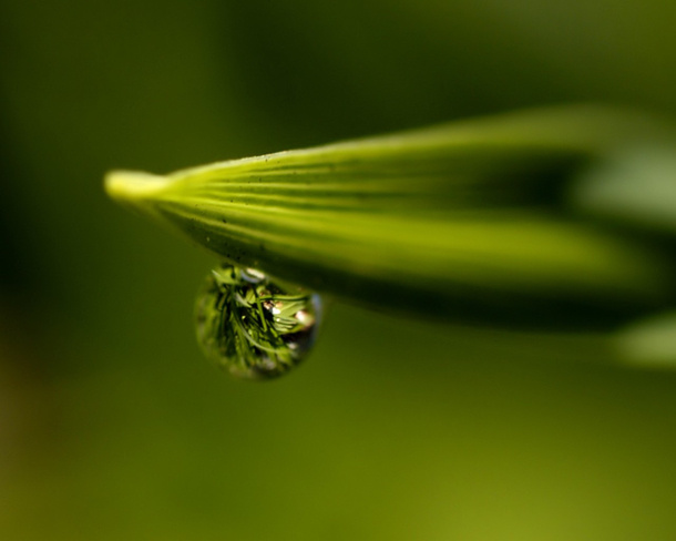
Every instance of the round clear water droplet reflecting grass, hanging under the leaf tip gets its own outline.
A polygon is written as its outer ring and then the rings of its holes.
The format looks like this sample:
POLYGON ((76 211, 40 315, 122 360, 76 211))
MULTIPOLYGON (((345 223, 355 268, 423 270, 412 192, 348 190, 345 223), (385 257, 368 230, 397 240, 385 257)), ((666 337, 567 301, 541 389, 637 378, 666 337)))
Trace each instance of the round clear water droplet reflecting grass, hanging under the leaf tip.
POLYGON ((231 374, 265 379, 294 368, 311 348, 319 295, 253 268, 212 270, 195 305, 197 340, 231 374))

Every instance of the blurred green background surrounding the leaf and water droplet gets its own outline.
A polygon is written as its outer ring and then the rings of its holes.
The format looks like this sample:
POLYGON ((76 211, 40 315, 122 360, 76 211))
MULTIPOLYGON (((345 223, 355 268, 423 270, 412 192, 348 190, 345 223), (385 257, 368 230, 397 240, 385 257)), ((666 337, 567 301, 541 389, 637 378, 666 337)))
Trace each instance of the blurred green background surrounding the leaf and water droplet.
POLYGON ((676 375, 334 306, 229 380, 214 261, 107 201, 168 172, 520 106, 676 112, 673 0, 0 0, 0 539, 673 540, 676 375))

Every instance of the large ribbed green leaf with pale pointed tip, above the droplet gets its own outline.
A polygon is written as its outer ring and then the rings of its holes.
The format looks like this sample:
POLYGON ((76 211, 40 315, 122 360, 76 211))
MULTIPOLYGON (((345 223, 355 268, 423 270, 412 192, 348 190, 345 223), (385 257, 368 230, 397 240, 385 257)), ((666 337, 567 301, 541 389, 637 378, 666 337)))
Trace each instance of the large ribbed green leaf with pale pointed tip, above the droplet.
POLYGON ((154 176, 107 193, 219 258, 379 309, 612 327, 667 306, 672 265, 565 203, 574 175, 660 130, 578 106, 154 176))

